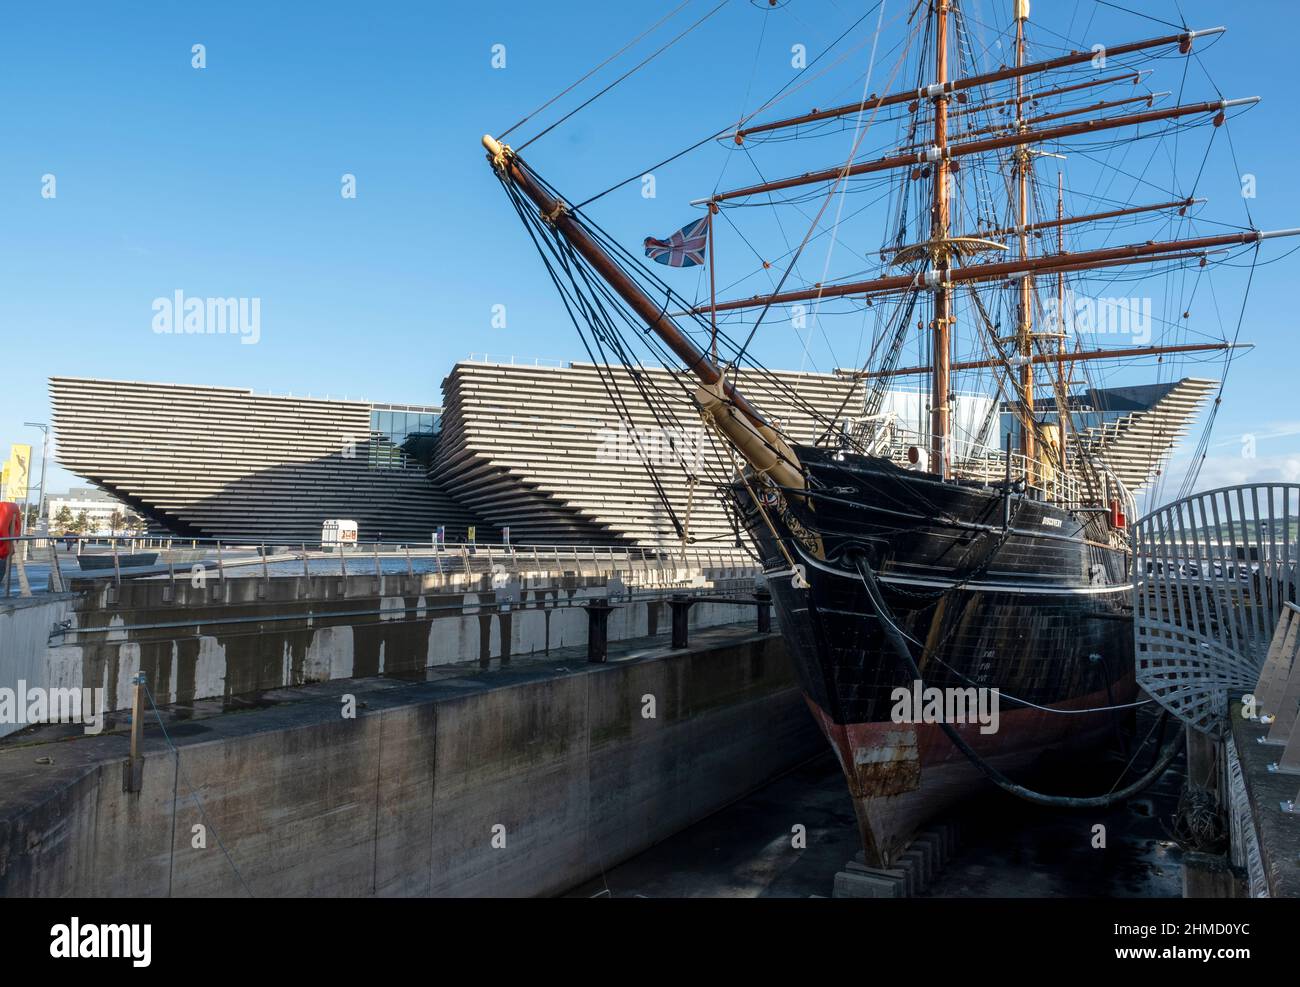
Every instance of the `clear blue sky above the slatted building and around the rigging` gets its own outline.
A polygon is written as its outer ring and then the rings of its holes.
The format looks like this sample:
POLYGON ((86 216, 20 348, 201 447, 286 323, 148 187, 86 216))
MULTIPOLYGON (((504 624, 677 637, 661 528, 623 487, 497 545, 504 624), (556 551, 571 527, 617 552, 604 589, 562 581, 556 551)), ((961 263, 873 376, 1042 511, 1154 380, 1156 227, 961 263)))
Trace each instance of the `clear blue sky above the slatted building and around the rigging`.
MULTIPOLYGON (((887 0, 887 12, 910 3, 887 0)), ((437 403, 447 369, 471 354, 581 359, 478 139, 676 5, 9 5, 0 31, 0 365, 8 371, 0 446, 39 440, 22 423, 49 420, 51 375, 437 403), (205 68, 192 65, 195 44, 204 46, 205 68), (494 46, 504 46, 504 68, 493 65, 494 46), (356 198, 341 195, 344 174, 355 176, 356 198), (55 177, 53 198, 42 195, 44 176, 55 177), (257 343, 153 332, 153 300, 177 290, 260 299, 257 343), (507 325, 497 328, 493 307, 502 304, 507 325)), ((693 0, 520 133, 532 135, 715 5, 693 0)), ((540 139, 529 160, 573 200, 636 176, 753 109, 790 77, 792 46, 806 44, 811 57, 870 7, 781 0, 768 10, 766 1, 731 0, 659 61, 540 139)), ((1010 20, 1009 0, 966 7, 988 23, 1010 20)), ((1256 176, 1252 215, 1261 228, 1300 226, 1296 55, 1284 27, 1292 0, 1122 7, 1195 27, 1228 26, 1205 65, 1226 95, 1264 98, 1231 125, 1240 169, 1256 176)), ((1034 0, 1034 8, 1083 40, 1169 31, 1096 0, 1034 0)), ((870 34, 867 25, 859 34, 870 34)), ((861 56, 864 64, 866 49, 861 56)), ((1161 72, 1170 78, 1152 87, 1178 90, 1179 69, 1162 64, 1161 72)), ((874 88, 884 91, 883 82, 874 88)), ((1197 95, 1204 91, 1200 85, 1197 95)), ((800 112, 812 100, 800 95, 783 109, 800 112)), ((599 220, 629 247, 676 229, 693 216, 688 200, 731 166, 725 150, 705 151, 659 169, 654 200, 640 183, 606 196, 599 220)), ((1199 191, 1239 198, 1234 174, 1214 181, 1199 191)), ((1232 369, 1205 482, 1300 480, 1297 264, 1300 255, 1256 274, 1243 339, 1257 349, 1232 369), (1242 456, 1244 434, 1256 437, 1254 458, 1242 456)), ((693 276, 681 277, 694 293, 693 276)), ((1235 300, 1225 299, 1228 322, 1235 300)), ((788 339, 764 355, 786 367, 805 356, 788 339)), ((816 359, 809 365, 829 368, 816 359)), ((53 469, 49 489, 77 482, 53 469)))

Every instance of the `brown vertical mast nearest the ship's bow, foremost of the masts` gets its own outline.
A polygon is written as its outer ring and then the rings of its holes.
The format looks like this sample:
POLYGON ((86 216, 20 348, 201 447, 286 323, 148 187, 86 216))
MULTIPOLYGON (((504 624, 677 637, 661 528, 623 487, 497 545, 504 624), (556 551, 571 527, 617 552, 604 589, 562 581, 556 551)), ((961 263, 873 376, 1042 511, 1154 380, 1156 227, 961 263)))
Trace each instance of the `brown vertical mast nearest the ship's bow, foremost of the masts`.
POLYGON ((933 294, 933 364, 930 393, 930 472, 948 477, 950 467, 952 421, 948 395, 952 393, 952 304, 953 289, 948 281, 950 254, 948 250, 948 5, 950 0, 932 0, 935 12, 935 161, 933 204, 930 213, 930 242, 933 244, 933 264, 937 283, 933 294))

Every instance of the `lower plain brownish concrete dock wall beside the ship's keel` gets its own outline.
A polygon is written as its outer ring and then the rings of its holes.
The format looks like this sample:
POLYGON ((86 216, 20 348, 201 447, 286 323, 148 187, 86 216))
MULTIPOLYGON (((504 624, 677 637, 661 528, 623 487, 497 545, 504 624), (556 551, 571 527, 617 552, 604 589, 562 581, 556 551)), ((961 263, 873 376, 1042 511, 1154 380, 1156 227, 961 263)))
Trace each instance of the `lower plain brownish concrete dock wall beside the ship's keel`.
POLYGON ((775 635, 567 665, 0 750, 0 895, 554 895, 824 748, 775 635))

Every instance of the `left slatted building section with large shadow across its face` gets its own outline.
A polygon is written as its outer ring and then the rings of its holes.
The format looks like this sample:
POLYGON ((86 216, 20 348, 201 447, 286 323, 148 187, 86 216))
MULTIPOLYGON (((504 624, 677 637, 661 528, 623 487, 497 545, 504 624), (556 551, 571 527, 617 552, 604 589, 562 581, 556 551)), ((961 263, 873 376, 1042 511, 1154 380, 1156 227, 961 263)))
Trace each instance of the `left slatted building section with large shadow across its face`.
POLYGON ((138 381, 51 377, 60 464, 183 537, 462 540, 478 523, 430 484, 441 411, 138 381))

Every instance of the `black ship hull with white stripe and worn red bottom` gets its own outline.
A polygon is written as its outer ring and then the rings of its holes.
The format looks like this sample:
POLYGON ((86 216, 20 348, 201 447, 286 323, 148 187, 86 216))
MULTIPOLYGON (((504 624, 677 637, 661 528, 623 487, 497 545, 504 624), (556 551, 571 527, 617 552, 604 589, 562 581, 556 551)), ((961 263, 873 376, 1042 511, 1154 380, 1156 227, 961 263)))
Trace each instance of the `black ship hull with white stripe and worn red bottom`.
POLYGON ((1004 772, 1114 730, 1113 711, 1070 710, 1135 694, 1128 557, 1096 511, 874 456, 796 453, 807 489, 751 482, 741 514, 800 684, 844 767, 867 860, 888 866, 927 818, 985 784, 937 719, 1004 772), (858 559, 876 575, 883 611, 858 559), (909 638, 919 681, 885 620, 909 638), (922 688, 970 702, 984 691, 997 717, 924 715, 905 701, 922 688))

